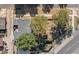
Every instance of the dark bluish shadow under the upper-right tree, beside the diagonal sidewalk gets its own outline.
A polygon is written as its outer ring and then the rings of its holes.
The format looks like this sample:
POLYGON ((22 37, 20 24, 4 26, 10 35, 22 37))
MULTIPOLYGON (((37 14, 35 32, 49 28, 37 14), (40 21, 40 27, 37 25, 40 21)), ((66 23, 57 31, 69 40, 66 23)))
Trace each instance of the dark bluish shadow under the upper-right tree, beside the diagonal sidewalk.
MULTIPOLYGON (((62 43, 63 39, 66 39, 66 37, 70 37, 72 34, 72 28, 65 28, 64 26, 57 26, 54 27, 52 38, 55 40, 55 43, 60 45, 62 43)), ((54 41, 53 40, 53 41, 54 41)))

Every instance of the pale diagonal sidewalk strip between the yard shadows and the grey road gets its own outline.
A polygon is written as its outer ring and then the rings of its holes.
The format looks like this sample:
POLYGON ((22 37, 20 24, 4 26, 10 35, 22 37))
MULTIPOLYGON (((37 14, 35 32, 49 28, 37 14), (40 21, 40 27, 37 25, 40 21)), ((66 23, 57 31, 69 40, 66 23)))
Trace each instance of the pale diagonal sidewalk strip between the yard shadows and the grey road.
POLYGON ((64 46, 66 46, 73 38, 73 35, 62 41, 62 44, 52 48, 49 52, 41 53, 41 54, 57 54, 64 46))

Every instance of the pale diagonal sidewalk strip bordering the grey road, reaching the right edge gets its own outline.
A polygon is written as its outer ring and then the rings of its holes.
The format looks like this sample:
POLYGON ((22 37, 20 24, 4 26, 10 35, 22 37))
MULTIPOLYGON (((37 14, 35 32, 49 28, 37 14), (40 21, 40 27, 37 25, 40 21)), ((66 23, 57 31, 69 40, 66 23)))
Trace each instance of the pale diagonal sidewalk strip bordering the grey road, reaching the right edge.
POLYGON ((57 54, 64 46, 66 46, 74 38, 74 36, 76 36, 76 34, 78 33, 78 31, 79 30, 77 30, 74 33, 72 33, 71 37, 63 40, 61 45, 59 45, 58 47, 52 48, 48 53, 49 54, 52 54, 52 53, 57 54))

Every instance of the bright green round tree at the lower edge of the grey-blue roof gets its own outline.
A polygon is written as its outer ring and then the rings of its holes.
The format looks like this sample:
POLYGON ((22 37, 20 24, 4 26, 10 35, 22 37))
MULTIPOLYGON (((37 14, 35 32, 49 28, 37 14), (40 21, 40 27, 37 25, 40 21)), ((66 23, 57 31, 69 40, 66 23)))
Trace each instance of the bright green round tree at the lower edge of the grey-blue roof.
POLYGON ((36 47, 36 38, 31 33, 24 33, 18 39, 16 39, 17 49, 31 50, 36 47))

